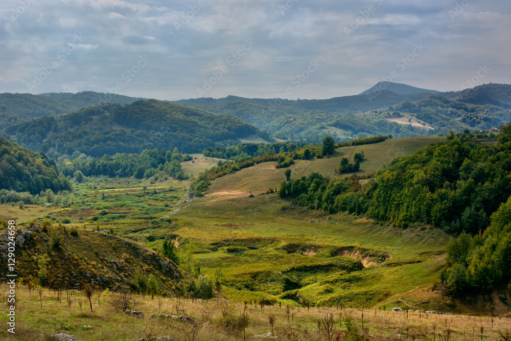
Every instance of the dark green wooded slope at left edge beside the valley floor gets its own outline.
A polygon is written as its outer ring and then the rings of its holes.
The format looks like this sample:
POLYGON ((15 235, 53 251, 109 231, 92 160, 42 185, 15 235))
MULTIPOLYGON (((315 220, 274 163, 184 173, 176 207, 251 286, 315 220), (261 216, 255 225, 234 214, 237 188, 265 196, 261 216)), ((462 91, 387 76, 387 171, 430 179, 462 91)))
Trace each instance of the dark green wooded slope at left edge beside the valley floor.
POLYGON ((58 176, 55 161, 0 138, 0 188, 39 194, 69 190, 69 181, 58 176))

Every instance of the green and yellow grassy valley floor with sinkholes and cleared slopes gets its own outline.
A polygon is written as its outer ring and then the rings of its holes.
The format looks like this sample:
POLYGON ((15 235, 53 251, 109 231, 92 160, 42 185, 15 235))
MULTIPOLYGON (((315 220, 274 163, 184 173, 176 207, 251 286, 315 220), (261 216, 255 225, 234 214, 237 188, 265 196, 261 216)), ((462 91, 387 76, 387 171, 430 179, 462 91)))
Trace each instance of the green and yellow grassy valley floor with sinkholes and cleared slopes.
MULTIPOLYGON (((339 148, 330 158, 296 162, 291 177, 311 171, 329 175, 341 157, 352 158, 355 150, 364 150, 366 156, 361 172, 374 172, 392 157, 411 154, 435 139, 339 148)), ((69 219, 67 227, 81 229, 85 224, 91 230, 98 226, 100 231, 137 241, 153 251, 166 238, 179 248, 193 240, 201 273, 213 279, 221 269, 222 297, 235 302, 507 312, 499 297, 460 302, 433 290, 446 264, 445 246, 450 237, 443 231, 430 226, 401 230, 361 217, 328 216, 294 207, 276 193, 266 194, 285 178, 283 173, 274 163, 246 168, 214 180, 206 196, 193 200, 187 197, 187 181, 151 184, 94 179, 77 185, 73 203, 66 209, 0 207, 0 214, 10 217, 20 211, 18 223, 45 217, 54 223, 69 219)), ((88 259, 108 257, 109 246, 91 246, 100 243, 88 237, 94 233, 80 236, 82 245, 74 246, 75 253, 90 255, 88 259), (100 256, 91 255, 94 250, 100 256)))

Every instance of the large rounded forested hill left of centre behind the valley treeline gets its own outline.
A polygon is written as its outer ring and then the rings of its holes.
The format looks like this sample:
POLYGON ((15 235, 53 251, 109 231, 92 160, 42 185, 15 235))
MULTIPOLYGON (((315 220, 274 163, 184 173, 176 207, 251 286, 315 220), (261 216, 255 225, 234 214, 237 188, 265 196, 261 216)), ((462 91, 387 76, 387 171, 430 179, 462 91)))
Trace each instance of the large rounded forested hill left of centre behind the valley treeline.
POLYGON ((52 157, 75 151, 99 157, 175 147, 185 153, 200 153, 215 145, 238 144, 239 138, 249 135, 269 139, 238 118, 157 100, 139 100, 125 106, 100 104, 18 123, 5 128, 3 134, 52 157))

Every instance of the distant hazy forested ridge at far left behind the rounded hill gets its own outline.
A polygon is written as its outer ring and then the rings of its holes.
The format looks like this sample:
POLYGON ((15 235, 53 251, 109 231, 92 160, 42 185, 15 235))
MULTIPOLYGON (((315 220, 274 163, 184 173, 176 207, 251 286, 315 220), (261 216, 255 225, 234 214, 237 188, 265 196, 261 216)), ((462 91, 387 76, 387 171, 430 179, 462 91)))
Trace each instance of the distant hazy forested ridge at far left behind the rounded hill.
POLYGON ((131 104, 140 98, 114 94, 102 94, 92 91, 81 93, 49 93, 32 94, 0 94, 0 108, 5 113, 0 115, 0 128, 5 127, 11 120, 5 121, 5 114, 27 120, 35 117, 59 115, 101 103, 131 104))

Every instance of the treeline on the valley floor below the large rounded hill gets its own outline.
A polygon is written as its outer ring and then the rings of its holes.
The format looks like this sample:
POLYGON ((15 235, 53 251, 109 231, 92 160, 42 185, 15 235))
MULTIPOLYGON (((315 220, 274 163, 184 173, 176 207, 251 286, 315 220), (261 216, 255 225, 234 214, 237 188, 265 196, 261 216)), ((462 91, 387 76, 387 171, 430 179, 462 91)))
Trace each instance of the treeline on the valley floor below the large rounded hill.
POLYGON ((174 179, 183 180, 190 176, 183 173, 181 162, 192 160, 189 154, 182 155, 177 147, 170 150, 144 150, 141 154, 117 153, 102 157, 77 157, 72 161, 62 160, 59 169, 65 176, 79 176, 77 171, 84 176, 119 176, 135 177, 137 179, 149 178, 157 174, 170 176, 174 179))

